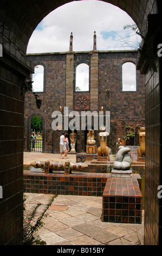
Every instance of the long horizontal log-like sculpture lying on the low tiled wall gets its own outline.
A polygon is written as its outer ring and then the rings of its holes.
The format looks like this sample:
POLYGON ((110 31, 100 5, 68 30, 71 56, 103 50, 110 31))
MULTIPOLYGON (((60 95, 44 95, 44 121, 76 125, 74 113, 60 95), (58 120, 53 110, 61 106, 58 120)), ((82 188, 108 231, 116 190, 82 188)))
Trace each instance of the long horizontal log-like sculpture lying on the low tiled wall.
POLYGON ((54 162, 53 160, 48 161, 34 161, 30 163, 35 168, 43 168, 44 174, 49 174, 50 170, 64 170, 64 174, 68 175, 72 170, 84 170, 88 167, 85 163, 73 163, 73 162, 54 162))

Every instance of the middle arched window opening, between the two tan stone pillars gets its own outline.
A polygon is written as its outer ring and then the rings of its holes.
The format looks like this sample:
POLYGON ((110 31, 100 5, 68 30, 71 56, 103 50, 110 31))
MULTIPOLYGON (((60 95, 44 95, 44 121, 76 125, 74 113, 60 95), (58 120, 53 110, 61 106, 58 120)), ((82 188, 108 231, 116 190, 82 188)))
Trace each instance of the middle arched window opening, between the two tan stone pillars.
POLYGON ((76 67, 75 92, 89 91, 89 66, 81 63, 76 67))

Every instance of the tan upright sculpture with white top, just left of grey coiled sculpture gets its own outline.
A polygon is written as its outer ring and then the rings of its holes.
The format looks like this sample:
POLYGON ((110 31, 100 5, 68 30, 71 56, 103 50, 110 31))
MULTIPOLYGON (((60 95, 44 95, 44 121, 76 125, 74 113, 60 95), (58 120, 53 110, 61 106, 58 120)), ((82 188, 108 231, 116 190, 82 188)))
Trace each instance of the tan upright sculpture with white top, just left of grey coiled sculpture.
POLYGON ((106 132, 105 127, 100 127, 99 131, 100 147, 98 148, 98 156, 108 156, 109 148, 107 147, 107 136, 109 133, 106 132))

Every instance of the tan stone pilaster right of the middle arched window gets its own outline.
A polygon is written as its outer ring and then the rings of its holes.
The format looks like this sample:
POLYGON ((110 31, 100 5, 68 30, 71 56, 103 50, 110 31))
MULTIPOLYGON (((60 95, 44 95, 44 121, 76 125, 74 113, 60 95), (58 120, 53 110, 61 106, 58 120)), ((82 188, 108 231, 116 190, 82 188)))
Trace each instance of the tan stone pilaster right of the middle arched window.
POLYGON ((90 58, 90 111, 98 111, 99 53, 93 51, 90 58))

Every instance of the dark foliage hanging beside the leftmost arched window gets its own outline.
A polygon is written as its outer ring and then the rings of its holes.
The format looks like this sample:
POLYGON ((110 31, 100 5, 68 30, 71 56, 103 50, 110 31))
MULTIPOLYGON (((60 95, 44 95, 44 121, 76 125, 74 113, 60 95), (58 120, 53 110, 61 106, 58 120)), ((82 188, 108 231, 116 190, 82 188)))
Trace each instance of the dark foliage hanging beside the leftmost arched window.
POLYGON ((38 109, 41 108, 42 106, 42 100, 38 99, 39 95, 33 92, 33 81, 31 81, 31 78, 25 78, 25 80, 22 82, 21 90, 25 93, 31 92, 35 96, 35 102, 36 102, 36 107, 38 109))

